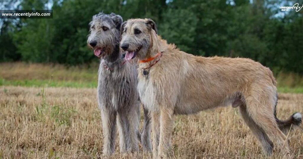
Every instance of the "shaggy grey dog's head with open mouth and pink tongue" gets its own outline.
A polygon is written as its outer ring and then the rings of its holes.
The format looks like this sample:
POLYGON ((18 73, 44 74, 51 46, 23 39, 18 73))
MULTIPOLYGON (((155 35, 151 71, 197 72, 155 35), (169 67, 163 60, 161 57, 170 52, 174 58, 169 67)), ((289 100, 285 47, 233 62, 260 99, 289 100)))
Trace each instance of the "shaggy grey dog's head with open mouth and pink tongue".
POLYGON ((90 34, 88 35, 88 47, 94 49, 94 54, 104 57, 111 54, 121 39, 122 17, 115 13, 103 14, 102 12, 93 16, 89 23, 90 34))

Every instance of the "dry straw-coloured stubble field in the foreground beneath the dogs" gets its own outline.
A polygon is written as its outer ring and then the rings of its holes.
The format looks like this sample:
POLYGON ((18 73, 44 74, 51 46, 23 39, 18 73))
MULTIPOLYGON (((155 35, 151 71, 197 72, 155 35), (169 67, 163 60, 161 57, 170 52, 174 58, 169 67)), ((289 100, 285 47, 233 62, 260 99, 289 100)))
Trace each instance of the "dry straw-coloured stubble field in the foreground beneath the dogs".
MULTIPOLYGON (((278 118, 303 112, 303 94, 280 94, 278 118)), ((142 121, 141 121, 142 123, 142 121)), ((0 86, 0 158, 103 158, 94 88, 0 86)), ((288 135, 294 158, 303 158, 302 128, 288 135)), ((266 158, 238 110, 219 108, 177 116, 172 158, 266 158)), ((274 150, 271 158, 280 158, 274 150)), ((151 158, 136 154, 111 158, 151 158)))

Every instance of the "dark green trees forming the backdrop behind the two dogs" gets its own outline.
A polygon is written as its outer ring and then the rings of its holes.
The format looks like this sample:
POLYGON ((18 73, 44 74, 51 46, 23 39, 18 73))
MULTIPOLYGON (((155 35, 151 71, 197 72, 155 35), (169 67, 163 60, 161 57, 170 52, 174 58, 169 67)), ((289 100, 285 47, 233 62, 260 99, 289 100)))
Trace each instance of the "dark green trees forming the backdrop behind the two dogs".
POLYGON ((302 0, 23 0, 19 9, 52 6, 53 19, 2 21, 0 61, 68 65, 97 61, 86 46, 88 23, 103 11, 120 14, 124 20, 151 18, 159 35, 191 54, 247 57, 274 72, 302 74, 303 9, 279 9, 297 2, 303 4, 302 0))

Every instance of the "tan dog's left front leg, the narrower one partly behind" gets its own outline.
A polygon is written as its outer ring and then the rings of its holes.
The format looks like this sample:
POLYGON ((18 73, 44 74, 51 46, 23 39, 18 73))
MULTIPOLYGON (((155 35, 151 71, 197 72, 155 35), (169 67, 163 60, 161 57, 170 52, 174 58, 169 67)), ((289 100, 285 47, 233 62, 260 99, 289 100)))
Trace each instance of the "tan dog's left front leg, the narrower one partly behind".
POLYGON ((160 112, 151 112, 151 125, 152 125, 152 147, 153 147, 153 158, 156 159, 158 156, 159 136, 160 136, 160 112))

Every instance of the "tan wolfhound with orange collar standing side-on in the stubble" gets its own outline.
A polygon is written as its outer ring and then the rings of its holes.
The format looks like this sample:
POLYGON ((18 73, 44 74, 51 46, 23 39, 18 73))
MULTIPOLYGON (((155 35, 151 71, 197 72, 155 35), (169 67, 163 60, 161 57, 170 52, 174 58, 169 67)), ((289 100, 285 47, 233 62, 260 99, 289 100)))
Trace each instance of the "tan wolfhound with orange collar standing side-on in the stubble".
POLYGON ((269 68, 246 58, 199 57, 180 51, 157 35, 150 19, 122 24, 120 47, 125 59, 138 59, 138 92, 151 111, 154 158, 168 154, 175 114, 192 114, 218 106, 239 112, 265 154, 274 140, 289 154, 285 131, 301 123, 301 114, 276 117, 277 88, 269 68), (291 126, 293 125, 293 126, 291 126))

